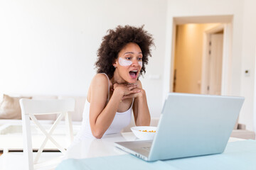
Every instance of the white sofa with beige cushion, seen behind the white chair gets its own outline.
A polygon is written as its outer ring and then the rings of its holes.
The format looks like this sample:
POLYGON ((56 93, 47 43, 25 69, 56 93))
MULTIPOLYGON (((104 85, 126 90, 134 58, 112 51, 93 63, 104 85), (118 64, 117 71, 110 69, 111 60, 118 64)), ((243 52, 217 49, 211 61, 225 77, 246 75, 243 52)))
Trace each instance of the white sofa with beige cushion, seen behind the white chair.
MULTIPOLYGON (((53 95, 20 95, 20 94, 0 94, 0 152, 9 151, 21 151, 23 149, 23 137, 22 137, 22 120, 21 120, 21 108, 19 100, 21 98, 31 99, 60 99, 60 98, 74 98, 75 99, 75 111, 72 113, 73 120, 73 133, 74 135, 80 130, 82 123, 82 111, 84 108, 85 96, 53 96, 53 95)), ((58 115, 36 115, 41 125, 46 128, 50 128, 58 115)), ((31 130, 36 134, 33 143, 33 148, 39 148, 41 142, 44 140, 43 134, 33 126, 31 120, 31 130), (35 142, 34 142, 35 141, 35 142)), ((65 121, 62 120, 58 128, 53 132, 55 134, 55 140, 60 142, 65 139, 65 121)), ((63 142, 65 143, 65 141, 63 142)), ((67 146, 66 146, 67 147, 67 146)), ((47 142, 46 148, 49 150, 55 150, 55 146, 52 142, 47 142)))

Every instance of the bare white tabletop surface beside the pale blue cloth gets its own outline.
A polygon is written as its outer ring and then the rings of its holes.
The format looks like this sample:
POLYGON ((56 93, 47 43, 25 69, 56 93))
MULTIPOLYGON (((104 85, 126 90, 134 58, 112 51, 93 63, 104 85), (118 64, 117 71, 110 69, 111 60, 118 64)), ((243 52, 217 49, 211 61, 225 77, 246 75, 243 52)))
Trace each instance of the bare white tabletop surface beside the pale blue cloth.
MULTIPOLYGON (((90 157, 105 157, 112 155, 127 154, 114 146, 114 142, 139 140, 132 132, 124 132, 121 134, 106 135, 102 139, 84 139, 78 143, 74 143, 68 148, 64 159, 85 159, 90 157)), ((235 142, 238 139, 230 137, 228 142, 235 142)))

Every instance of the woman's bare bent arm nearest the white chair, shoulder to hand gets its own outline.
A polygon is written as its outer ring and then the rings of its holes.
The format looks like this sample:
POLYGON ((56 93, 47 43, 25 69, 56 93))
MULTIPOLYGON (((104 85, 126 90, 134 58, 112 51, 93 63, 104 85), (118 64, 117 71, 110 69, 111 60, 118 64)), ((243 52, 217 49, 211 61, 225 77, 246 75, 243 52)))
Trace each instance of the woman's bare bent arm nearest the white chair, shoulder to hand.
POLYGON ((134 88, 127 89, 125 86, 118 86, 114 89, 110 101, 107 103, 108 79, 104 74, 97 74, 90 85, 90 128, 92 135, 101 138, 114 120, 122 97, 125 94, 136 93, 134 88))

